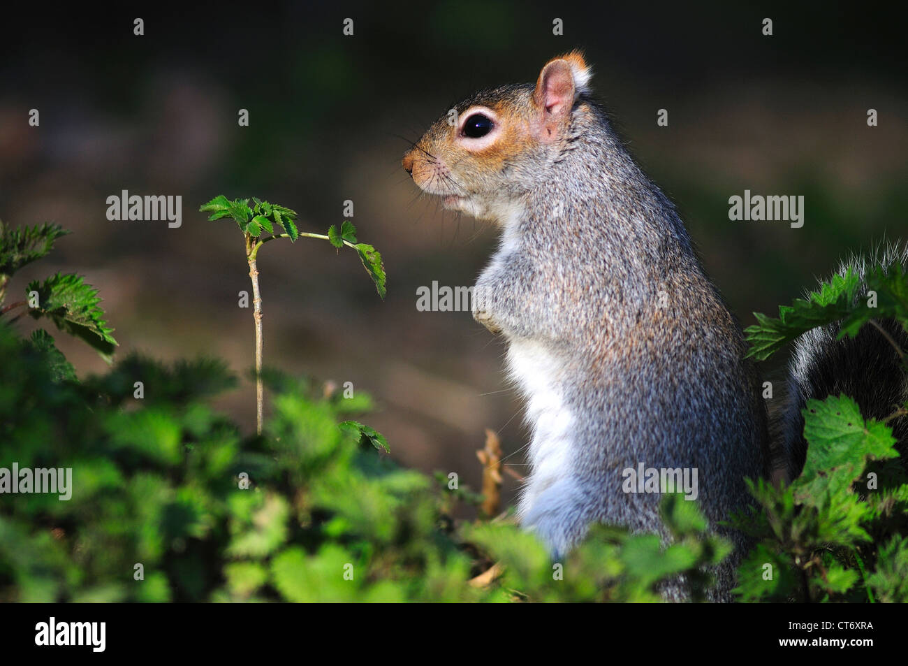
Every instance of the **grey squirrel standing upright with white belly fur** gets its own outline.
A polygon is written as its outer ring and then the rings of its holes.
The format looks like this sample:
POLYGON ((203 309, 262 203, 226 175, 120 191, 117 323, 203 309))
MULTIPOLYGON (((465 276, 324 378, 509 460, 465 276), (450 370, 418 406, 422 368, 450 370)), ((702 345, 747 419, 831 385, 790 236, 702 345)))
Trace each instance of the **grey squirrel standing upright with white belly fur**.
MULTIPOLYGON (((666 536, 659 493, 627 492, 624 472, 639 465, 696 470, 697 499, 714 526, 743 510, 745 477, 768 477, 779 458, 797 471, 794 414, 826 389, 814 366, 834 363, 812 356, 827 341, 802 344, 790 404, 774 418, 785 444, 771 452, 740 326, 675 206, 590 98, 589 80, 581 54, 556 57, 536 84, 460 102, 456 117, 443 115, 403 158, 446 208, 500 228, 473 316, 508 342, 531 428, 518 513, 555 558, 593 522, 666 536)), ((713 597, 730 601, 746 542, 716 531, 736 545, 713 597)), ((682 582, 664 593, 685 598, 682 582)))

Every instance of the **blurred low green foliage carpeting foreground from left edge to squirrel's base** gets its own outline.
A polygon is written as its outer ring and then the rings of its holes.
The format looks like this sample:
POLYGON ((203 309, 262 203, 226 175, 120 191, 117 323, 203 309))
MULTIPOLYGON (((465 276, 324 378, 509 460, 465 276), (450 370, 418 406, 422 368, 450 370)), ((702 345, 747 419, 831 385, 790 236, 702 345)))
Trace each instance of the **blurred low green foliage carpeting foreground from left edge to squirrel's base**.
POLYGON ((597 529, 557 573, 511 522, 454 521, 469 489, 380 455, 309 381, 267 373, 273 415, 247 437, 207 405, 234 385, 222 363, 132 354, 80 383, 61 359, 0 327, 0 460, 73 470, 68 501, 0 496, 0 601, 657 601, 680 573, 702 594, 727 550, 671 496, 672 544, 597 529))

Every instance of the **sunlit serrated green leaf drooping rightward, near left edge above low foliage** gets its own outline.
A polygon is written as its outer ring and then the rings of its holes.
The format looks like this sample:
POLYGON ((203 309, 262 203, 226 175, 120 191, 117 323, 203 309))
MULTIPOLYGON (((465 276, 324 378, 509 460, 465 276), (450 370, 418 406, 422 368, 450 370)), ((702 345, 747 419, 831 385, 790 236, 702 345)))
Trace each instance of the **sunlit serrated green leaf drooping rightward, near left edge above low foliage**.
POLYGON ((81 275, 56 273, 44 283, 32 281, 25 290, 26 299, 32 292, 38 296, 37 307, 29 308, 32 317, 50 317, 61 331, 81 338, 110 361, 117 344, 111 336, 114 329, 107 327, 104 311, 98 307, 98 291, 84 283, 81 275))

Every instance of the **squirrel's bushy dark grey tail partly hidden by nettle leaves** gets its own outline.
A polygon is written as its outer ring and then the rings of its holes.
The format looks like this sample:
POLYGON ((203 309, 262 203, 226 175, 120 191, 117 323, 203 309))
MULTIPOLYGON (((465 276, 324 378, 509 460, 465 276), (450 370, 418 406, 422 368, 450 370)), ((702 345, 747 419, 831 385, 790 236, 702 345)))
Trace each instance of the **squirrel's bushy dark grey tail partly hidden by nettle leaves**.
MULTIPOLYGON (((869 255, 853 256, 839 266, 838 273, 844 275, 851 268, 863 281, 874 266, 896 263, 908 269, 908 244, 884 244, 869 255)), ((881 319, 862 327, 856 337, 836 340, 839 330, 839 324, 833 323, 808 331, 795 341, 788 364, 785 405, 772 414, 771 423, 775 468, 784 467, 789 481, 804 468, 807 442, 801 410, 808 400, 844 393, 854 398, 864 418, 877 420, 908 400, 908 377, 895 349, 898 345, 908 350, 908 333, 902 325, 881 319)), ((908 418, 893 419, 889 424, 899 442, 896 448, 903 464, 908 464, 908 418)))

